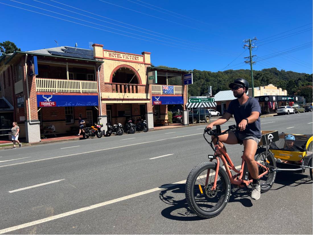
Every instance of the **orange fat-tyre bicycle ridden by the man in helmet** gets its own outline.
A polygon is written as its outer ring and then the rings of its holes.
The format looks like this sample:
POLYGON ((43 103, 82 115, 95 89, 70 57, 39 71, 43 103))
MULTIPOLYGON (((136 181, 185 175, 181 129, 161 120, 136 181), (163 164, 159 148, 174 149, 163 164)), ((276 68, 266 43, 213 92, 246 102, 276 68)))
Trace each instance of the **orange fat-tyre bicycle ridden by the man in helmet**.
MULTIPOLYGON (((205 134, 213 135, 217 142, 213 146, 212 141, 205 140, 214 150, 214 155, 208 155, 209 161, 196 165, 189 173, 186 181, 186 200, 189 208, 196 215, 203 218, 211 218, 222 212, 226 206, 231 192, 231 184, 245 187, 252 183, 247 164, 242 156, 241 168, 237 170, 228 154, 218 145, 218 136, 236 130, 236 125, 229 126, 221 132, 220 126, 216 130, 205 129, 205 134), (216 162, 213 162, 216 160, 216 162), (222 160, 225 168, 220 165, 222 160), (233 170, 235 175, 232 175, 233 170)), ((213 139, 214 139, 213 138, 213 139)), ((259 146, 255 157, 259 167, 259 183, 261 192, 267 192, 275 181, 276 163, 273 154, 266 148, 259 146)))

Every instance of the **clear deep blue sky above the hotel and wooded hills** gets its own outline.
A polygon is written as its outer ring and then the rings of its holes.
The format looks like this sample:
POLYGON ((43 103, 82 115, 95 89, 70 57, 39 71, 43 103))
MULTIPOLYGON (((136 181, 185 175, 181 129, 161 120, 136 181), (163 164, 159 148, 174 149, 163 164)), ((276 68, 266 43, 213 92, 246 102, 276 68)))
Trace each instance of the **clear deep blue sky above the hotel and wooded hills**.
POLYGON ((108 50, 135 54, 149 51, 155 66, 217 71, 250 69, 243 63, 249 55, 249 50, 242 48, 243 40, 257 37, 259 40, 254 41, 257 47, 252 52, 257 55, 255 70, 276 67, 312 73, 309 0, 0 0, 0 3, 19 7, 0 4, 0 41, 13 41, 23 51, 55 47, 54 40, 59 46, 77 43, 79 48, 86 49, 93 42, 108 50), (284 54, 288 51, 291 53, 284 54))

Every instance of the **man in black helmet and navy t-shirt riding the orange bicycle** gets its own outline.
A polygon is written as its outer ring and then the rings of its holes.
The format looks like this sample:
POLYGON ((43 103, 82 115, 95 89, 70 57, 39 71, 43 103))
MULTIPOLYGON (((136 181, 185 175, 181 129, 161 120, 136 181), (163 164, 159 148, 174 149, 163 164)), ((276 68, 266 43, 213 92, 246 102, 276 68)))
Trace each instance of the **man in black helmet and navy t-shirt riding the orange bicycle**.
MULTIPOLYGON (((229 84, 234 97, 237 99, 229 103, 227 112, 223 117, 208 124, 207 128, 213 129, 213 126, 226 123, 234 115, 238 130, 233 133, 227 133, 219 136, 219 146, 225 151, 225 144, 244 144, 244 157, 253 178, 251 198, 258 200, 261 196, 261 187, 259 184, 259 169, 254 156, 261 140, 261 108, 259 102, 253 97, 247 96, 249 82, 243 78, 238 78, 229 84)), ((212 139, 214 136, 212 136, 212 139)), ((216 144, 216 138, 213 140, 216 144)))

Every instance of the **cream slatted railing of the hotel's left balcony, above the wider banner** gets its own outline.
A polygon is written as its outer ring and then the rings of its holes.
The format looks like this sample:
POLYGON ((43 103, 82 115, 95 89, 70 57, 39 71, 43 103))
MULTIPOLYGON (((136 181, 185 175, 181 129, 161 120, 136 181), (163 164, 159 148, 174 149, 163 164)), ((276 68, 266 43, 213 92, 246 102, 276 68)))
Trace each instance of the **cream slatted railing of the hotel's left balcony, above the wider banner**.
POLYGON ((97 93, 96 81, 36 78, 36 91, 97 93))

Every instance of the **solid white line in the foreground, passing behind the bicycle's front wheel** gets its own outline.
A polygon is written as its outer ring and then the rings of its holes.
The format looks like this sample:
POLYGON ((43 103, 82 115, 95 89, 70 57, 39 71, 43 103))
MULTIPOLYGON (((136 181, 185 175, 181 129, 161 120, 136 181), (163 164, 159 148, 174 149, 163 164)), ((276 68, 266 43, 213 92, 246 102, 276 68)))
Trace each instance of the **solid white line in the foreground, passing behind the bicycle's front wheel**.
MULTIPOLYGON (((239 168, 241 168, 241 165, 236 166, 235 168, 239 169, 239 168)), ((214 172, 210 173, 210 175, 213 175, 213 174, 214 174, 214 172)), ((206 177, 206 175, 203 175, 201 178, 203 178, 203 177, 206 177)), ((149 189, 149 190, 142 191, 142 192, 139 192, 139 193, 134 193, 134 194, 131 194, 131 195, 128 195, 128 196, 124 196, 124 197, 120 197, 120 198, 116 198, 116 199, 113 199, 113 200, 110 200, 110 201, 104 201, 104 202, 101 202, 101 203, 98 203, 98 204, 94 204, 94 205, 91 205, 91 206, 82 207, 82 208, 79 208, 79 209, 76 209, 76 210, 73 210, 73 211, 64 212, 64 213, 61 213, 61 214, 58 214, 58 215, 55 215, 55 216, 46 217, 44 219, 35 220, 35 221, 32 221, 32 222, 20 224, 20 225, 17 225, 17 226, 4 228, 4 229, 0 230, 0 234, 6 233, 6 232, 12 232, 12 231, 15 231, 15 230, 18 230, 18 229, 21 229, 21 228, 26 228, 26 227, 30 227, 30 226, 33 226, 33 225, 36 225, 36 224, 41 224, 41 223, 48 222, 48 221, 51 221, 51 220, 55 220, 55 219, 63 218, 63 217, 66 217, 66 216, 74 215, 74 214, 77 214, 77 213, 80 213, 80 212, 89 211, 91 209, 95 209, 95 208, 98 208, 98 207, 101 207, 101 206, 106 206, 106 205, 109 205, 109 204, 112 204, 112 203, 115 203, 115 202, 124 201, 126 199, 130 199, 130 198, 133 198, 133 197, 137 197, 137 196, 141 196, 141 195, 144 195, 144 194, 152 193, 152 192, 155 192, 155 191, 164 190, 165 188, 173 187, 175 185, 184 184, 184 183, 186 183, 186 180, 182 180, 182 181, 179 181, 179 182, 176 182, 176 183, 172 183, 172 184, 168 184, 168 185, 163 185, 161 187, 157 187, 157 188, 154 188, 154 189, 149 189)))

